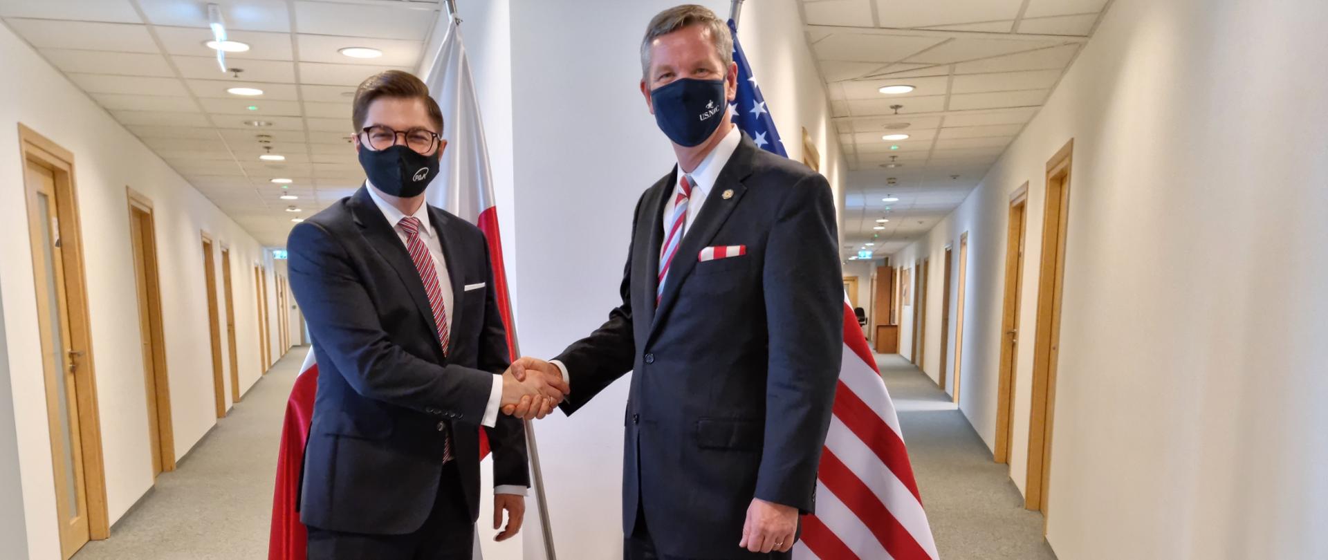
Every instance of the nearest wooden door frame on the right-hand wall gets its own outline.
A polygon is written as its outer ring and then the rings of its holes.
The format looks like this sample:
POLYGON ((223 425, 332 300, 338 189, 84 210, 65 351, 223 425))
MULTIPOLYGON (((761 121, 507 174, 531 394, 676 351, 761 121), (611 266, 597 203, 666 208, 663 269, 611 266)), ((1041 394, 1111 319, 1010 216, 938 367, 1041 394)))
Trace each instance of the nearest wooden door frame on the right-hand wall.
MULTIPOLYGON (((1052 463, 1056 411, 1056 369, 1060 358, 1061 293, 1065 280, 1065 239, 1069 220, 1070 165, 1074 139, 1046 162, 1042 212, 1042 256, 1037 280, 1037 333, 1033 341, 1033 397, 1028 425, 1028 483, 1024 507, 1041 511, 1044 522, 1052 463)), ((1045 524, 1044 524, 1045 532, 1045 524)))

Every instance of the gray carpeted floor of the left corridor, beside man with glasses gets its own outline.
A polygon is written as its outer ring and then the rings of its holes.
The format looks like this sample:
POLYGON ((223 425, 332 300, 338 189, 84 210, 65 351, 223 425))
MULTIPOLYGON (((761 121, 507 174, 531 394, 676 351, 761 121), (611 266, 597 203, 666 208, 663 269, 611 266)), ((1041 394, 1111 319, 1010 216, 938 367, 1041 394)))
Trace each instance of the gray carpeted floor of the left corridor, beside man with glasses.
POLYGON ((282 418, 307 346, 276 362, 173 472, 73 560, 267 557, 282 418))

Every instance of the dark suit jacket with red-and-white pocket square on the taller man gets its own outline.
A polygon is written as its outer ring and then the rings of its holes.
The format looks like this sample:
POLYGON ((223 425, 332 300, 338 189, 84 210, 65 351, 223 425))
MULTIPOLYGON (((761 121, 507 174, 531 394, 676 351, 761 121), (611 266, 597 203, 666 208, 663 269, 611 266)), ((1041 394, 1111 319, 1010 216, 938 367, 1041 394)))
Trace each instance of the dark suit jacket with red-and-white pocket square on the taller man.
POLYGON ((734 557, 753 498, 811 512, 843 354, 843 280, 826 179, 744 135, 685 232, 656 308, 677 170, 636 204, 623 304, 562 360, 572 414, 635 370, 624 413, 623 531, 734 557), (699 261, 705 247, 746 255, 699 261))

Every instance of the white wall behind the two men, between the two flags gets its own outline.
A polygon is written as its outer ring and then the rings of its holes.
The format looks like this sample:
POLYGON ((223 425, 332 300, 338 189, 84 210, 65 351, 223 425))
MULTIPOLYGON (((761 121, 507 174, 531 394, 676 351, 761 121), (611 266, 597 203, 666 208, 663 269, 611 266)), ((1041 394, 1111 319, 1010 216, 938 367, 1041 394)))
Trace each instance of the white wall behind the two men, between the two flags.
MULTIPOLYGON (((620 303, 632 208, 675 163, 637 90, 645 24, 673 4, 587 0, 568 9, 564 3, 522 1, 511 9, 521 263, 514 285, 527 354, 560 352, 620 303)), ((721 15, 729 9, 728 1, 704 4, 721 15)), ((829 102, 802 29, 794 0, 748 3, 740 38, 789 155, 801 158, 806 126, 838 194, 842 157, 837 137, 827 133, 829 102)), ((485 118, 491 114, 486 106, 485 118)), ((571 376, 575 386, 576 373, 571 376)), ((535 425, 559 557, 622 555, 627 381, 574 418, 558 414, 535 425)), ((531 540, 538 533, 530 531, 526 539, 526 555, 535 557, 531 540)))

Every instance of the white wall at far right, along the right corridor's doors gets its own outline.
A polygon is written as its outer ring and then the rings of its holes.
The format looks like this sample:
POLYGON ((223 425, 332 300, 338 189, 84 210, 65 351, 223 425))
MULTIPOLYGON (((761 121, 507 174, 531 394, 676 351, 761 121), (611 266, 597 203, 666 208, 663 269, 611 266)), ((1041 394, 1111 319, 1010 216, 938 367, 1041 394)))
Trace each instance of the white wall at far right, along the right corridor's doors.
POLYGON ((1060 557, 1328 557, 1325 23, 1313 0, 1117 0, 981 186, 896 255, 932 255, 939 311, 940 247, 971 231, 961 409, 991 445, 1008 198, 1031 182, 1023 488, 1045 163, 1074 138, 1048 523, 1060 557))

